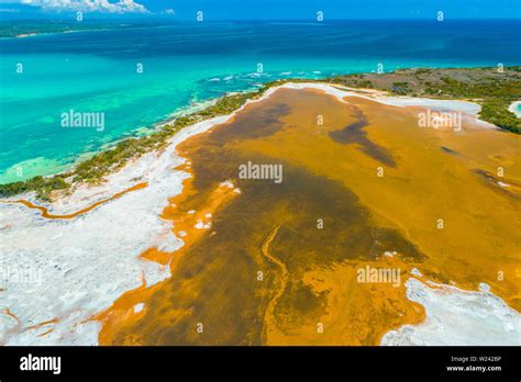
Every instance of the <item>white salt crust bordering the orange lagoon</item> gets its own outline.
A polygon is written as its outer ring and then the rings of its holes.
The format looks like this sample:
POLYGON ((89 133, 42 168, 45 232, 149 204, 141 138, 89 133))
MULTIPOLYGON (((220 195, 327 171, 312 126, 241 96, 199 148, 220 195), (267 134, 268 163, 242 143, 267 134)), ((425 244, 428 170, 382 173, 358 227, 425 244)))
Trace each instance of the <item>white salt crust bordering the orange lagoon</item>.
MULTIPOLYGON (((347 103, 346 97, 358 97, 392 106, 455 110, 478 121, 479 106, 465 101, 368 97, 323 83, 286 83, 279 88, 318 89, 347 103)), ((255 102, 270 97, 279 88, 269 89, 255 102)), ((70 195, 44 204, 54 214, 69 214, 137 183, 148 183, 86 214, 70 220, 47 220, 38 211, 1 203, 0 342, 97 345, 101 324, 92 318, 98 313, 143 283, 153 285, 171 277, 168 266, 142 259, 140 255, 151 247, 173 252, 182 246, 181 238, 171 233, 170 223, 159 217, 167 200, 182 191, 182 181, 189 177, 175 169, 185 162, 176 147, 196 134, 230 121, 234 114, 189 126, 176 134, 166 149, 145 154, 108 177, 107 182, 98 187, 80 186, 70 195), (11 274, 13 269, 33 277, 20 280, 11 274)), ((40 203, 34 194, 22 196, 40 203)), ((388 333, 383 344, 505 345, 516 339, 516 334, 519 338, 519 313, 491 292, 439 286, 429 288, 413 278, 407 281, 407 296, 424 306, 428 318, 418 326, 403 326, 388 333), (494 324, 487 328, 488 323, 494 324), (481 327, 483 336, 473 339, 470 332, 456 329, 462 325, 481 327)), ((142 308, 143 305, 137 307, 142 308)))

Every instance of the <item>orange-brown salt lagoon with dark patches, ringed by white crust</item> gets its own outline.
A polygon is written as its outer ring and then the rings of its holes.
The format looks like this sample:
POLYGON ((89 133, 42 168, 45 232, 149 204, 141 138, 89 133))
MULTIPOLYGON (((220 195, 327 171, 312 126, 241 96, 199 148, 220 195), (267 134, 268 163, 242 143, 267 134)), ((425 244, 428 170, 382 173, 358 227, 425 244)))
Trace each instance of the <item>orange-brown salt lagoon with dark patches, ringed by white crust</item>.
POLYGON ((179 145, 191 178, 160 217, 185 245, 142 254, 171 277, 98 315, 100 344, 379 345, 425 321, 412 274, 486 283, 519 312, 521 137, 344 101, 278 89, 179 145), (281 166, 282 181, 239 177, 248 162, 281 166))

